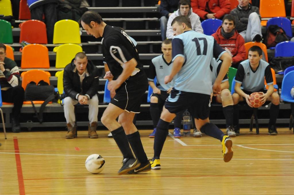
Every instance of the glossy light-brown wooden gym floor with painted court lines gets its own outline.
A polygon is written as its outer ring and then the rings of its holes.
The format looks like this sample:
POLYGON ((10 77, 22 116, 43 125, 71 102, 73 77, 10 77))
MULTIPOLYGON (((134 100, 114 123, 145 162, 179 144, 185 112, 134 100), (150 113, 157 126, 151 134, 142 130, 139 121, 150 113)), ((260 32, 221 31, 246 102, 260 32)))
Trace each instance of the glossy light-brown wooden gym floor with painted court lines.
MULTIPOLYGON (((6 140, 0 133, 0 194, 294 194, 294 135, 288 128, 277 136, 241 129, 228 163, 217 139, 168 136, 161 170, 136 175, 117 174, 121 152, 108 131, 97 132, 98 139, 87 138, 87 131, 75 139, 65 139, 65 131, 8 133, 6 140), (100 174, 84 165, 95 153, 106 161, 100 174)), ((148 157, 150 133, 140 130, 148 157)))

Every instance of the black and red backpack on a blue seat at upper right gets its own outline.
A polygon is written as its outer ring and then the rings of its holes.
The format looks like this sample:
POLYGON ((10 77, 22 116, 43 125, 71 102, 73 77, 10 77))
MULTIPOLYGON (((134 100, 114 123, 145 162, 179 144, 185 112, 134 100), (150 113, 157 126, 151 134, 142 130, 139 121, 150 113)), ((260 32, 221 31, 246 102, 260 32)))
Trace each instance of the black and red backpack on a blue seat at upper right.
POLYGON ((266 45, 266 47, 275 47, 278 43, 283 41, 289 41, 289 38, 286 35, 284 29, 278 25, 268 26, 265 39, 263 40, 263 43, 266 45))

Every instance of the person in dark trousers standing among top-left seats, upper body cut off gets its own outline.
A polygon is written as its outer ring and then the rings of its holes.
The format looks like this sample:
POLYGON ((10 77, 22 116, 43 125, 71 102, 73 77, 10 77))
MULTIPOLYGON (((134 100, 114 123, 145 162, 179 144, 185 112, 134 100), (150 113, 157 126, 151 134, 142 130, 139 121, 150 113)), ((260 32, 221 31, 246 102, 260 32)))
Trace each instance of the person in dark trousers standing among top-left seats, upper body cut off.
POLYGON ((42 21, 44 14, 47 31, 47 40, 48 43, 52 43, 54 24, 57 22, 57 0, 27 0, 27 3, 30 8, 32 20, 42 21))

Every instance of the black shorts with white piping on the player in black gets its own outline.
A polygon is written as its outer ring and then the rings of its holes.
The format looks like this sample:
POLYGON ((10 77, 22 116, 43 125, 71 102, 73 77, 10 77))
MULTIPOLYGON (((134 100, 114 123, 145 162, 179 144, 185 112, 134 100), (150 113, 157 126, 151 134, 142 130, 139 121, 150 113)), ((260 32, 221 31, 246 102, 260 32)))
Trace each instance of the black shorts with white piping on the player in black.
POLYGON ((121 84, 110 103, 127 112, 140 113, 142 96, 147 89, 147 76, 144 71, 141 70, 121 84))

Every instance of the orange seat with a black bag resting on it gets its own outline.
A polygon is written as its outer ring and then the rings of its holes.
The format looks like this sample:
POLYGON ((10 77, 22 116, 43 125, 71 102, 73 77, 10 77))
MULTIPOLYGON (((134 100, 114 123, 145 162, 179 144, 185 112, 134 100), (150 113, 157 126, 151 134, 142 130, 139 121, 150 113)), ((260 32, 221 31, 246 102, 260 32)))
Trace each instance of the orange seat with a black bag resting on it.
MULTIPOLYGON (((22 74, 22 83, 21 87, 26 90, 26 85, 31 81, 39 83, 40 80, 44 80, 50 85, 50 73, 44 70, 29 70, 22 74)), ((42 104, 44 101, 33 101, 34 104, 42 104)), ((52 102, 49 102, 52 103, 52 102)), ((31 104, 31 101, 24 101, 24 104, 31 104)))

